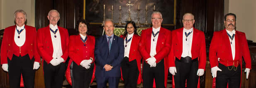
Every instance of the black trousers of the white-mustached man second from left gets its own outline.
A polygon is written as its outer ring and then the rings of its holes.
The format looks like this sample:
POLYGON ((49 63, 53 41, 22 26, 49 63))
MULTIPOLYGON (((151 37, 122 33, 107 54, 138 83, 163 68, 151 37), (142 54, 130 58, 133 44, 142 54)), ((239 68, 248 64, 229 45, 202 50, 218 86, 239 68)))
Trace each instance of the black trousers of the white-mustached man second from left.
POLYGON ((43 61, 43 76, 46 88, 62 88, 64 74, 66 71, 66 64, 60 63, 53 66, 51 63, 47 64, 43 61))

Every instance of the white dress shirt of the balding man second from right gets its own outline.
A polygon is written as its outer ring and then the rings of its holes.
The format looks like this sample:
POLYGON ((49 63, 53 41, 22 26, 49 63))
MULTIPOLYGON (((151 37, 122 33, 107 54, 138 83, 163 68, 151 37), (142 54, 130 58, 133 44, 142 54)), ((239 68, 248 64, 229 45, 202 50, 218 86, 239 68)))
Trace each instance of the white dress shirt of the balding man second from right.
POLYGON ((181 57, 192 57, 191 55, 191 46, 192 46, 192 40, 193 40, 193 28, 191 29, 185 29, 183 28, 183 36, 182 36, 182 54, 181 57), (185 32, 188 34, 189 32, 191 32, 188 37, 186 37, 185 32), (187 38, 187 40, 186 40, 187 38))

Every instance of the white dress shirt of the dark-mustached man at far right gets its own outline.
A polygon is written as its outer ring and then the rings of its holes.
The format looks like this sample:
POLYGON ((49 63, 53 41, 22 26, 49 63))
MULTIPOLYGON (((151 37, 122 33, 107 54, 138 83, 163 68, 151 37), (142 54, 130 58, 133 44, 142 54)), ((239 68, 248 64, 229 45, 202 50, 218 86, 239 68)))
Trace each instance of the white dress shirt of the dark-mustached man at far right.
MULTIPOLYGON (((233 36, 233 34, 236 34, 236 31, 235 31, 235 30, 233 30, 233 31, 228 31, 228 30, 226 29, 226 31, 227 31, 227 33, 228 33, 231 37, 233 36)), ((228 37, 228 38, 229 38, 229 37, 228 37)), ((229 44, 230 44, 230 47, 231 47, 232 57, 233 57, 233 60, 234 60, 234 57, 235 57, 235 54, 236 54, 235 37, 233 38, 233 40, 231 40, 231 39, 229 38, 229 44), (231 44, 231 42, 232 42, 232 44, 231 44)))

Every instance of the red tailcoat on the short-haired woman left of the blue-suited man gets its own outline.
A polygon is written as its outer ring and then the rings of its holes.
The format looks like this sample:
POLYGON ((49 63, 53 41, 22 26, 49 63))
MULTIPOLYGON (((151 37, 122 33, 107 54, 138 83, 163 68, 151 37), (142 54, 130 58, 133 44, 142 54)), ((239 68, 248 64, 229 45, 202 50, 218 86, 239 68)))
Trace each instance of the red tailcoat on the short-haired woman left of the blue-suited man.
MULTIPOLYGON (((67 77, 67 80, 70 83, 70 85, 72 85, 72 81, 71 81, 71 77, 70 77, 71 62, 74 61, 77 65, 80 65, 82 60, 90 59, 90 57, 93 58, 93 62, 94 62, 95 61, 94 47, 95 47, 94 36, 87 35, 87 40, 85 43, 83 43, 82 40, 80 39, 80 35, 70 36, 69 49, 68 49, 70 60, 68 62, 68 68, 66 71, 66 77, 67 77), (85 44, 85 46, 84 46, 84 44, 85 44)), ((94 76, 95 67, 96 67, 96 65, 94 64, 94 70, 93 70, 91 82, 93 81, 93 79, 95 77, 94 76)))

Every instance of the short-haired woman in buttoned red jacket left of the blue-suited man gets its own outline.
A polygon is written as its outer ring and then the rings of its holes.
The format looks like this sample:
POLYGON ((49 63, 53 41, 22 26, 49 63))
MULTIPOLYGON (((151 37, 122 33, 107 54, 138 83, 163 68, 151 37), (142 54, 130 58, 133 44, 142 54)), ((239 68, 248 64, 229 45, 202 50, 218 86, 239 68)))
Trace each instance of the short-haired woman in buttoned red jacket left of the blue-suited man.
POLYGON ((70 36, 69 67, 72 88, 89 88, 94 69, 94 36, 89 36, 89 22, 80 19, 76 25, 77 35, 70 36))

